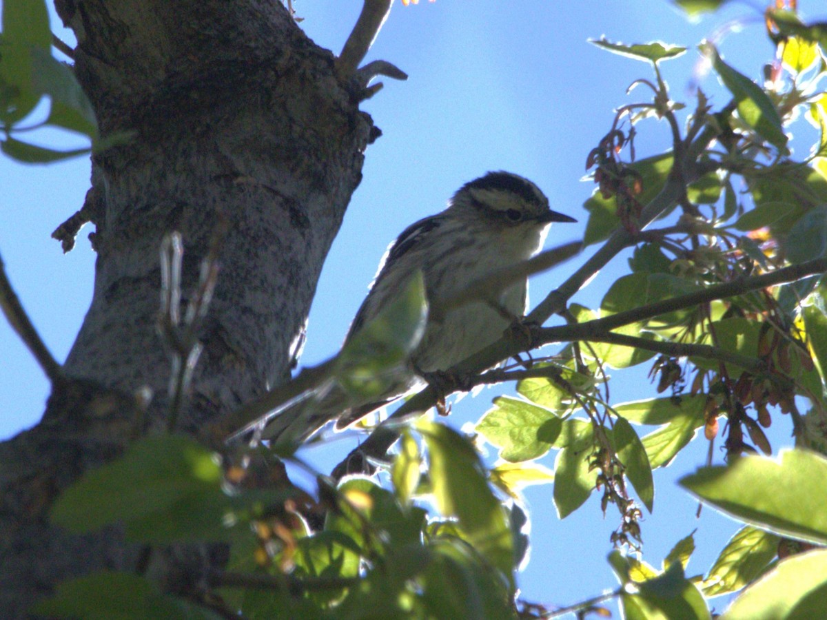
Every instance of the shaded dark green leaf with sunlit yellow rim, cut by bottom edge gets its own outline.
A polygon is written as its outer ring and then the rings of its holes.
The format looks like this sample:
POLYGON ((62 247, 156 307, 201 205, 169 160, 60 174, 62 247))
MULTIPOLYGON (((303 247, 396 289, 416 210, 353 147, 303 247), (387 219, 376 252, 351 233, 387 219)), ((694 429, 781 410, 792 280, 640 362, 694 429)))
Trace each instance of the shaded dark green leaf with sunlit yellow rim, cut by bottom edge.
POLYGON ((624 618, 640 620, 672 620, 681 618, 706 620, 710 618, 703 596, 683 575, 680 562, 669 569, 638 584, 638 594, 621 595, 624 618))

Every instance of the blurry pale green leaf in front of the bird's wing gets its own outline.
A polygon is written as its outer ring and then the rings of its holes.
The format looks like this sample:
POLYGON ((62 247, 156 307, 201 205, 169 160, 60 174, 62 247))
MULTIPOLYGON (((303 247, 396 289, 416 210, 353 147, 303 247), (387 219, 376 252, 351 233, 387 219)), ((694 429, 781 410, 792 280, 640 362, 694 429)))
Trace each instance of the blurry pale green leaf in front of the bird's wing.
POLYGON ((407 361, 418 346, 428 320, 428 303, 421 271, 414 274, 393 300, 347 339, 337 356, 336 375, 350 393, 379 396, 409 374, 407 361))

